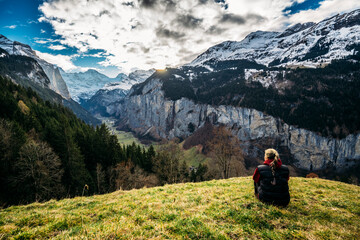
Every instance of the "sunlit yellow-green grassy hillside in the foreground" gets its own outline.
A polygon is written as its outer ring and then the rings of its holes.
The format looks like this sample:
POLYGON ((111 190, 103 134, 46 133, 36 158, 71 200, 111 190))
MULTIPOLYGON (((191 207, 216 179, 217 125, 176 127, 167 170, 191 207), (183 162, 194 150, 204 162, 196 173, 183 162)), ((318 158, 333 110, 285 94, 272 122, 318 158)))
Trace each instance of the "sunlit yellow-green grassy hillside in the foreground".
POLYGON ((0 211, 0 239, 356 239, 360 187, 291 178, 286 208, 250 177, 117 191, 0 211))

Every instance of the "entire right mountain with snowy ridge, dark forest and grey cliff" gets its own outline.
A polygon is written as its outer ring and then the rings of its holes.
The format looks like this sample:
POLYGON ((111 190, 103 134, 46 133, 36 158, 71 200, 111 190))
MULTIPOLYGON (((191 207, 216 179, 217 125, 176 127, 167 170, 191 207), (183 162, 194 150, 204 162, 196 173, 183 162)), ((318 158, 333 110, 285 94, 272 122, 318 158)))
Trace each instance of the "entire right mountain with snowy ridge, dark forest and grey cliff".
POLYGON ((133 86, 113 115, 156 140, 225 125, 250 164, 275 147, 298 169, 349 168, 360 159, 359 30, 355 10, 223 42, 133 86))

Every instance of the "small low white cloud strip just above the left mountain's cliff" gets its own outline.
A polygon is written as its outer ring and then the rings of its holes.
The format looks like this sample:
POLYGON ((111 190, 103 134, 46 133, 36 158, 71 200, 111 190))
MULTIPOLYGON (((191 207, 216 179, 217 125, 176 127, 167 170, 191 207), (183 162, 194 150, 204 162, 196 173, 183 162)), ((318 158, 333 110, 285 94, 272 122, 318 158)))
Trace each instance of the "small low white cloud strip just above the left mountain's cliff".
POLYGON ((66 56, 66 55, 53 55, 49 53, 42 53, 39 51, 35 51, 36 55, 38 55, 41 59, 44 59, 45 61, 55 64, 58 67, 61 67, 64 71, 84 71, 87 70, 87 68, 81 68, 74 65, 72 62, 72 59, 74 57, 77 57, 77 55, 74 56, 66 56))

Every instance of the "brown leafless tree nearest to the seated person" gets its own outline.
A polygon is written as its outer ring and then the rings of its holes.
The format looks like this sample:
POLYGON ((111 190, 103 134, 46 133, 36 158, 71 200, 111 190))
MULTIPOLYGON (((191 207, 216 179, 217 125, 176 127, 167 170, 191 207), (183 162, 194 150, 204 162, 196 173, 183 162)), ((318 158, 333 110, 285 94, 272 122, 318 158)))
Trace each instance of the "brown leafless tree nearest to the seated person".
POLYGON ((220 171, 222 178, 229 178, 231 170, 236 170, 234 173, 240 175, 239 168, 245 168, 239 140, 225 126, 214 128, 213 131, 214 138, 209 144, 213 164, 220 171))

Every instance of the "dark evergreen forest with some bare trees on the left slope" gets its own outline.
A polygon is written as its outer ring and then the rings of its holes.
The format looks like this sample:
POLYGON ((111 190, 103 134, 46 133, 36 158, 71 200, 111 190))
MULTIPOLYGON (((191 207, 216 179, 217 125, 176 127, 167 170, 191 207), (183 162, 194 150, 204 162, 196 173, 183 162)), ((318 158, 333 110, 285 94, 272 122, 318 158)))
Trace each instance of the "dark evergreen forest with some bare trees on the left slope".
MULTIPOLYGON (((0 76, 0 207, 118 189, 200 181, 179 146, 120 145, 68 108, 0 76)), ((199 170, 200 169, 200 170, 199 170)))

